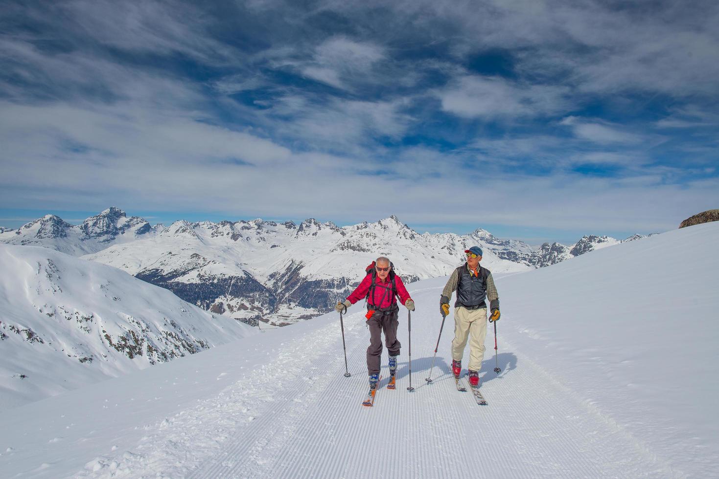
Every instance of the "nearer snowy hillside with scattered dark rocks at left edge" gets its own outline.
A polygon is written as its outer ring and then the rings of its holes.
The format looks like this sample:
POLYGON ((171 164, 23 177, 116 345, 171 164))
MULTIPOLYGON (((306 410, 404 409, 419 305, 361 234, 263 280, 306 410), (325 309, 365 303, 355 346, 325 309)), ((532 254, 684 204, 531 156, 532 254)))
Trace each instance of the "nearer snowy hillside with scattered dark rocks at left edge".
POLYGON ((118 269, 0 245, 0 406, 170 361, 255 330, 118 269))

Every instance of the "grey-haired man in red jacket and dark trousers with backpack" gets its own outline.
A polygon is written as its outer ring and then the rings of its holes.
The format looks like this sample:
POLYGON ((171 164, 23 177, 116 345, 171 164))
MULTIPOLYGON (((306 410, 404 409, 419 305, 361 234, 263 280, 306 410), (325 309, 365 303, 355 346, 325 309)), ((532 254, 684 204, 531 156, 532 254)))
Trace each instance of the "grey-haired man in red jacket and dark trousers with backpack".
POLYGON ((344 307, 350 307, 367 297, 367 326, 370 327, 367 373, 370 375, 370 389, 376 389, 377 381, 380 379, 381 332, 385 333, 385 345, 390 354, 390 383, 394 383, 395 380, 397 356, 402 347, 397 340, 399 307, 395 296, 400 297, 400 301, 408 310, 414 311, 414 302, 409 297, 402 279, 391 271, 390 260, 380 256, 375 261, 375 271, 370 270, 357 289, 344 302, 338 302, 335 306, 339 312, 344 310, 344 307))

